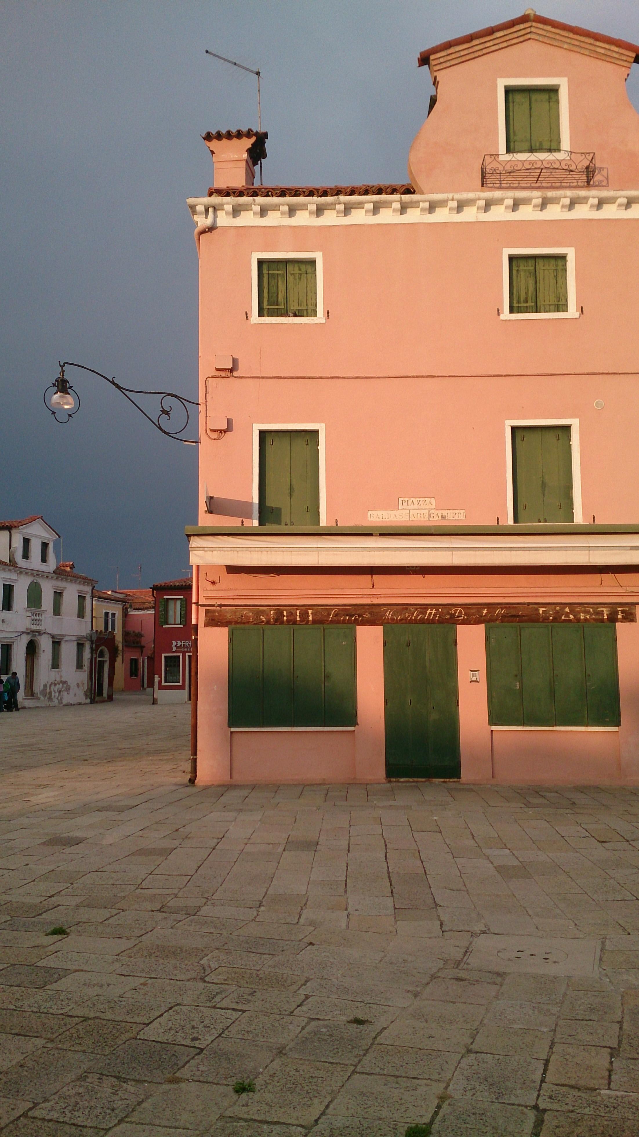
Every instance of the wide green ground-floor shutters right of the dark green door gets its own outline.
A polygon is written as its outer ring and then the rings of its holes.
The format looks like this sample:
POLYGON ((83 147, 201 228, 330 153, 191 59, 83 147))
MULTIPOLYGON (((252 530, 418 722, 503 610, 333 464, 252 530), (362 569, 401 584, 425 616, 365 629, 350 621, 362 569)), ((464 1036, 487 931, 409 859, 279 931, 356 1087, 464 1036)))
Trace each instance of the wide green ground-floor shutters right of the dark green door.
POLYGON ((614 624, 487 624, 492 727, 619 727, 614 624))

